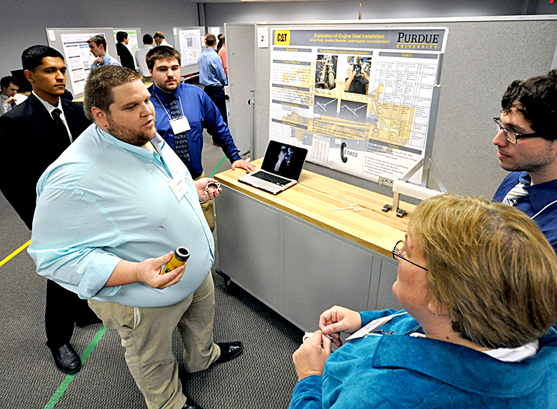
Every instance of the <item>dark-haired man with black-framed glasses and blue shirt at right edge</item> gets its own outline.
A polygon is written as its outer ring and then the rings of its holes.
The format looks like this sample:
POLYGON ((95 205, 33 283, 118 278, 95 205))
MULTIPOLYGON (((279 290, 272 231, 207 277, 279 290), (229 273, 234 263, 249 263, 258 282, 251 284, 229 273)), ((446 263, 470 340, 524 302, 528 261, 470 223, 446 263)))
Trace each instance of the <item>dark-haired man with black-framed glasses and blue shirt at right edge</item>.
POLYGON ((493 201, 516 206, 546 235, 557 251, 557 70, 513 81, 493 118, 497 157, 511 173, 493 201))

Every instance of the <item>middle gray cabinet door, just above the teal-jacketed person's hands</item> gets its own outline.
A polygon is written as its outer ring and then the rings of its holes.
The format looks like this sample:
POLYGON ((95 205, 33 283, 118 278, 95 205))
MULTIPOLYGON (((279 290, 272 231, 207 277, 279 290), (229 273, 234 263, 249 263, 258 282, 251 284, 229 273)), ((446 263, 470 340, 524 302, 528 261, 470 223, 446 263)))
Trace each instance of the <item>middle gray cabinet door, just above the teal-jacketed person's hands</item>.
POLYGON ((284 231, 283 315, 313 331, 334 305, 366 310, 371 251, 288 216, 284 231))

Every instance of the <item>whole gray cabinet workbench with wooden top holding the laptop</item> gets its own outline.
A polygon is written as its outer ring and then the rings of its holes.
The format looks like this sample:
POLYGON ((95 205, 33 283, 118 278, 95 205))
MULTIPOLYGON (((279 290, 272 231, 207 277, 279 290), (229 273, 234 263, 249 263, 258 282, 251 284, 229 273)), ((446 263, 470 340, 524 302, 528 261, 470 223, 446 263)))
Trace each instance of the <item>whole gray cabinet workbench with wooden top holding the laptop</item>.
POLYGON ((215 201, 219 273, 303 330, 316 330, 333 305, 401 308, 391 250, 408 220, 381 211, 392 198, 309 171, 274 196, 238 182, 245 174, 215 176, 223 187, 215 201), (352 203, 361 211, 331 211, 352 203))

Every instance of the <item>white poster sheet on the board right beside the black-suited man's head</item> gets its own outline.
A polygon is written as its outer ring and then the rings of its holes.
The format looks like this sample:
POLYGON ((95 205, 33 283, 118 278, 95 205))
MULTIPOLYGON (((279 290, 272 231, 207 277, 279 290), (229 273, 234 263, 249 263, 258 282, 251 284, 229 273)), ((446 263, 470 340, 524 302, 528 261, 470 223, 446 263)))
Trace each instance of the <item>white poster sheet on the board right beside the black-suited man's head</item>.
POLYGON ((66 59, 66 76, 69 76, 74 96, 84 93, 85 81, 89 77, 91 64, 95 61, 95 57, 89 51, 87 40, 97 34, 106 38, 104 33, 61 34, 60 36, 66 59))

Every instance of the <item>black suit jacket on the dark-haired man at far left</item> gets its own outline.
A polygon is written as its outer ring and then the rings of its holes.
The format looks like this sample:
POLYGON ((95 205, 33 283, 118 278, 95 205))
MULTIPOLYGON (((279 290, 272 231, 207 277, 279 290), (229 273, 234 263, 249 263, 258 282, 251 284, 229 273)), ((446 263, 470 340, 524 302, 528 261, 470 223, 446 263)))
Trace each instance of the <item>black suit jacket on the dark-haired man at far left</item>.
MULTIPOLYGON (((74 140, 91 125, 83 106, 60 99, 74 140)), ((33 223, 36 183, 44 170, 70 146, 67 136, 56 133, 54 120, 31 94, 24 103, 0 116, 0 190, 29 229, 33 223)))

